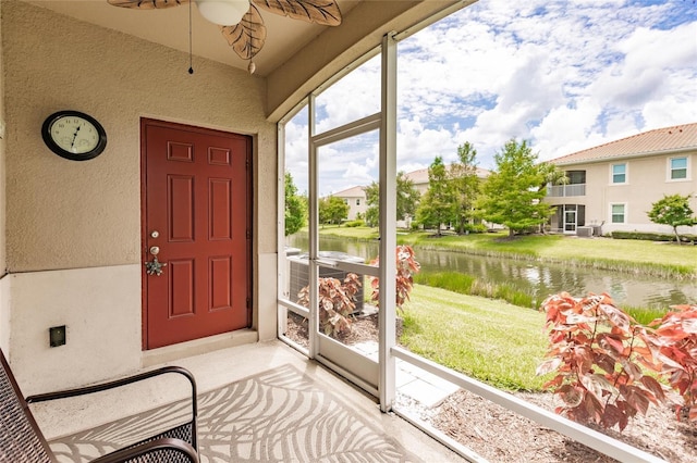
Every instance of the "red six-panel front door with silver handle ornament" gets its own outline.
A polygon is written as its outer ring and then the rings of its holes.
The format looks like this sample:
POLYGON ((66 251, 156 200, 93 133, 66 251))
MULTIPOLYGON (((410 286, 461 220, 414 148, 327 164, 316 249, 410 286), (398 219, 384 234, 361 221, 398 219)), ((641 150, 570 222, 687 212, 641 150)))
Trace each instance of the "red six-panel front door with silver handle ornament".
POLYGON ((144 347, 248 327, 250 138, 146 118, 140 138, 144 347))

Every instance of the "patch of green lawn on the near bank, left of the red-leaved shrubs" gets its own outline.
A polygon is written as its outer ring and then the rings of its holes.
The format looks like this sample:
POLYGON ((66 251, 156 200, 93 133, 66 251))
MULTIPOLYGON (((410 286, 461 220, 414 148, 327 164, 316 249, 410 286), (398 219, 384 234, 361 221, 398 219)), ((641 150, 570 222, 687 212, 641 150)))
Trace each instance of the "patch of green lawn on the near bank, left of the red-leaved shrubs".
POLYGON ((548 341, 545 314, 415 285, 401 342, 412 352, 508 390, 540 390, 535 370, 548 341))

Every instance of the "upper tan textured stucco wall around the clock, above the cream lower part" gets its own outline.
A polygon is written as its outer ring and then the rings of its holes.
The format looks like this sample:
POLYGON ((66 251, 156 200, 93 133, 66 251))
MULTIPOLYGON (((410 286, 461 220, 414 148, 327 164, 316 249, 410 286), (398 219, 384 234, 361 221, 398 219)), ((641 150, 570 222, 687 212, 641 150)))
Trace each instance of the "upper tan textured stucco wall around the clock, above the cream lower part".
POLYGON ((259 134, 255 159, 274 158, 259 78, 207 61, 189 75, 183 53, 21 2, 3 29, 10 272, 139 262, 140 116, 259 134), (46 148, 41 123, 63 109, 102 123, 103 154, 46 148))

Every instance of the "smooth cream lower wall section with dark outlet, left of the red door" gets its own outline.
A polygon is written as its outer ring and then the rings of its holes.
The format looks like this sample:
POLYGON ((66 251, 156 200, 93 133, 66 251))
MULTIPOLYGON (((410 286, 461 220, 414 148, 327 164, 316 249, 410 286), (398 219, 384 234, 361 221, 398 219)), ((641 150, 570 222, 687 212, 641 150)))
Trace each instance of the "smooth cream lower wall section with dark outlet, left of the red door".
POLYGON ((13 309, 12 367, 25 395, 140 366, 140 313, 133 310, 140 306, 134 290, 139 265, 11 274, 5 279, 13 309), (68 342, 48 348, 48 328, 62 325, 68 342))

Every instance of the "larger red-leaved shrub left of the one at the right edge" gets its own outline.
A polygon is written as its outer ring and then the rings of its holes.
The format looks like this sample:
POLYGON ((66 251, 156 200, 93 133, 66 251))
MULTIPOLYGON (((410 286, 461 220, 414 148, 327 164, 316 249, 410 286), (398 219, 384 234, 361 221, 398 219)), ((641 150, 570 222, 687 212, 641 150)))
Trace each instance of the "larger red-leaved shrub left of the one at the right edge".
POLYGON ((608 295, 576 299, 562 292, 542 303, 549 351, 538 374, 564 402, 557 413, 580 423, 624 429, 649 404, 665 400, 662 386, 644 368, 657 370, 653 337, 617 309, 608 295))

